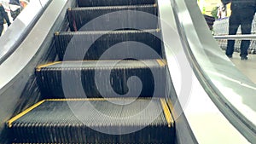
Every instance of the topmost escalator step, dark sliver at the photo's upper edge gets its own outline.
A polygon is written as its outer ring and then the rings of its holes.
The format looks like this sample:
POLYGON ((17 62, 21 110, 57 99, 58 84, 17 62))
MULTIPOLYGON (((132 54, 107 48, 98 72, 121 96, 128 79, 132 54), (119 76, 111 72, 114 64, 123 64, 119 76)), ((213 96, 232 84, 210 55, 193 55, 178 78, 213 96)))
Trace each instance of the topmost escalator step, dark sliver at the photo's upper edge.
POLYGON ((79 7, 154 4, 155 0, 78 0, 79 7))

